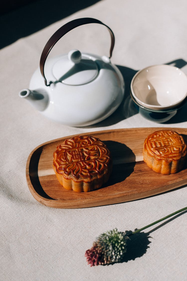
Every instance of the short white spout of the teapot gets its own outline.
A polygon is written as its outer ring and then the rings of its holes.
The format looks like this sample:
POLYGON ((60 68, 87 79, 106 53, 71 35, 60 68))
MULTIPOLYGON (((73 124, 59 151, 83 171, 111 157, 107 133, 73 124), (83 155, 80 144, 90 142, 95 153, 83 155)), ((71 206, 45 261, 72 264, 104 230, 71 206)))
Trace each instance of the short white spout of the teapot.
POLYGON ((27 99, 27 101, 29 101, 39 111, 45 110, 49 100, 47 92, 43 89, 23 89, 19 92, 19 97, 27 99))

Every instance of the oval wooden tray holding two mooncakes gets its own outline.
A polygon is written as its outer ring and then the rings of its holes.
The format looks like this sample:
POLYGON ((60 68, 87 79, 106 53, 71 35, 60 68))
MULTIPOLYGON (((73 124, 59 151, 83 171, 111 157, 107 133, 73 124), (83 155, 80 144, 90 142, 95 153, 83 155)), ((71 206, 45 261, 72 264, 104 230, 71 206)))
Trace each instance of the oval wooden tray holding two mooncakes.
POLYGON ((85 208, 132 201, 187 184, 187 164, 179 173, 161 175, 143 162, 142 149, 147 135, 171 129, 187 139, 183 128, 131 128, 84 133, 97 137, 111 151, 113 170, 107 184, 95 191, 77 193, 64 189, 52 168, 53 152, 66 138, 41 144, 29 155, 26 178, 29 190, 40 203, 53 208, 85 208))

